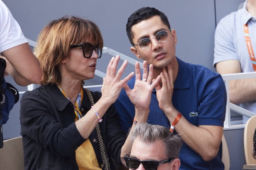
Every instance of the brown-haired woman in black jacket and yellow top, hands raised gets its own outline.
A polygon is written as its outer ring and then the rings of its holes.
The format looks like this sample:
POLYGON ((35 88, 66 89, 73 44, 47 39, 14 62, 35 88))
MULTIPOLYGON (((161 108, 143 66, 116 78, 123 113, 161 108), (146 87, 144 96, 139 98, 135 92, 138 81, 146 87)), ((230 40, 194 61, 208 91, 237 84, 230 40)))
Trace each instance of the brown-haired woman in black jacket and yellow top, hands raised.
POLYGON ((94 77, 103 47, 97 25, 76 17, 56 19, 41 31, 37 44, 42 85, 24 93, 20 106, 25 169, 113 170, 111 158, 121 163, 127 135, 112 104, 133 76, 120 80, 128 62, 116 75, 120 57, 113 57, 102 93, 89 92, 83 80, 94 77))

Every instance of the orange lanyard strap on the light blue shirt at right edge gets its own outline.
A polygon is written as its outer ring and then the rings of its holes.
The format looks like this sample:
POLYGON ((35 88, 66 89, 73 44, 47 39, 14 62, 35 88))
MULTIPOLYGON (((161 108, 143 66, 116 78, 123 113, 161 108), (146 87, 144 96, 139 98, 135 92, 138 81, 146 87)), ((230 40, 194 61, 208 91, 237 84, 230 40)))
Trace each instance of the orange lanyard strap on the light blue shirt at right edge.
POLYGON ((252 42, 251 42, 251 38, 249 35, 249 29, 248 29, 247 24, 244 25, 244 32, 245 32, 245 42, 246 42, 246 46, 248 49, 249 57, 252 61, 252 67, 253 67, 254 71, 256 71, 256 59, 255 59, 255 56, 253 53, 252 42))

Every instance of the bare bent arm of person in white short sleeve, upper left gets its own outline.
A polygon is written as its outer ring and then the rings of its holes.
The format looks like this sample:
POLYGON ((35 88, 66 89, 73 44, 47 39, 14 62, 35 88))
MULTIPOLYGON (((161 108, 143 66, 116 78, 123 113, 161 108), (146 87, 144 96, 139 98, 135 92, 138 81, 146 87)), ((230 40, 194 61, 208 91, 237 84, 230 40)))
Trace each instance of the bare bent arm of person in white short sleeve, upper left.
POLYGON ((8 60, 6 73, 11 75, 17 84, 26 86, 40 83, 42 70, 28 43, 12 47, 1 54, 8 60))

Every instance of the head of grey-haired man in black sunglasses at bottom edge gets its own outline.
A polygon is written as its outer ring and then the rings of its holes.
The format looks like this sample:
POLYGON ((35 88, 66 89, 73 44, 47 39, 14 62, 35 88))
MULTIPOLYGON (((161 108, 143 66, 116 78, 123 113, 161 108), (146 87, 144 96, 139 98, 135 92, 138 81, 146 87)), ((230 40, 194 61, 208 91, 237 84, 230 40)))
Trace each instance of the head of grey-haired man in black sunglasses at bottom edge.
POLYGON ((166 127, 137 123, 130 134, 131 154, 124 156, 130 170, 178 170, 182 140, 166 127))

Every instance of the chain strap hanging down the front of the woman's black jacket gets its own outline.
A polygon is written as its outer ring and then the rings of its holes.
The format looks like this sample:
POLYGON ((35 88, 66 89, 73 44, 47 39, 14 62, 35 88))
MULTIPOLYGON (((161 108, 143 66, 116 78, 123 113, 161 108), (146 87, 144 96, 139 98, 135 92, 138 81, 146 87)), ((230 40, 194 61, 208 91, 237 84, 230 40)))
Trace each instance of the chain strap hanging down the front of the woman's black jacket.
MULTIPOLYGON (((85 90, 86 90, 86 93, 87 93, 87 95, 90 99, 91 105, 94 105, 94 99, 92 97, 91 91, 88 90, 88 89, 85 89, 85 90)), ((105 165, 104 169, 105 170, 110 170, 109 157, 107 155, 106 147, 105 147, 104 141, 102 139, 102 131, 101 131, 99 123, 97 123, 97 125, 96 125, 96 133, 97 133, 97 137, 98 137, 98 141, 99 141, 99 145, 100 145, 102 160, 103 160, 103 163, 105 165)))

